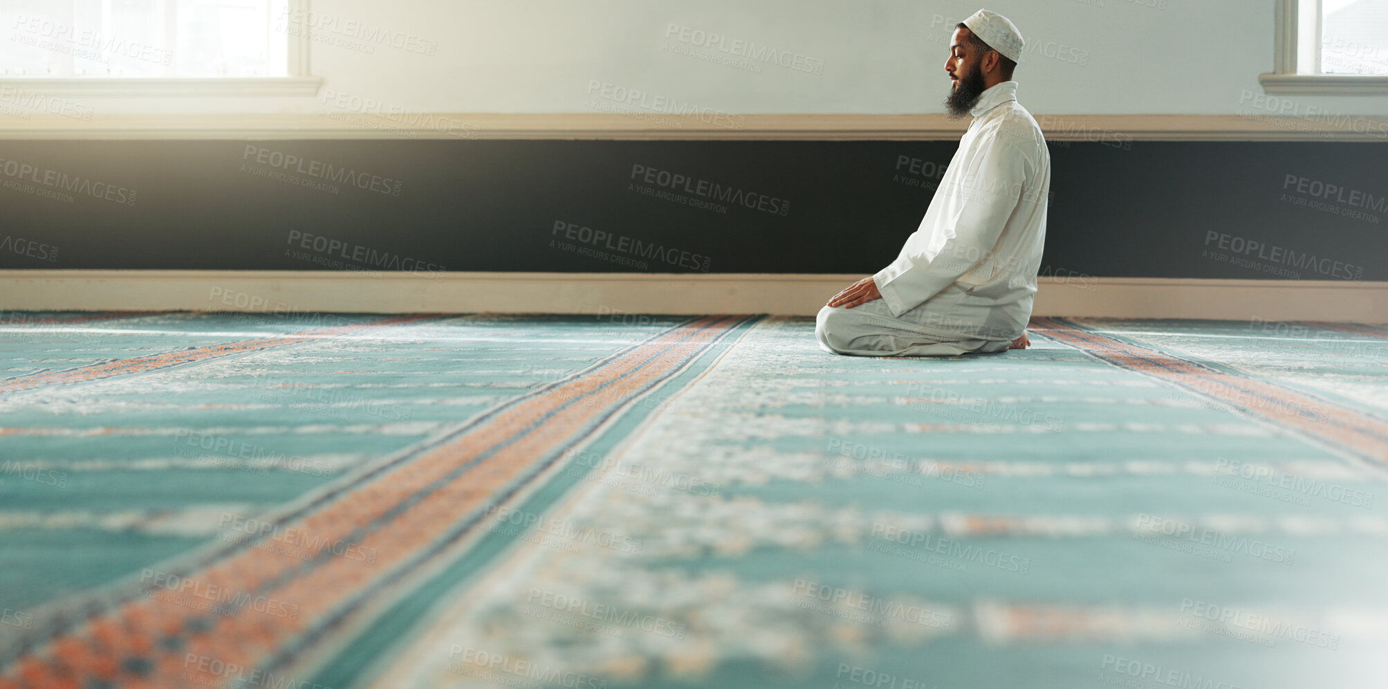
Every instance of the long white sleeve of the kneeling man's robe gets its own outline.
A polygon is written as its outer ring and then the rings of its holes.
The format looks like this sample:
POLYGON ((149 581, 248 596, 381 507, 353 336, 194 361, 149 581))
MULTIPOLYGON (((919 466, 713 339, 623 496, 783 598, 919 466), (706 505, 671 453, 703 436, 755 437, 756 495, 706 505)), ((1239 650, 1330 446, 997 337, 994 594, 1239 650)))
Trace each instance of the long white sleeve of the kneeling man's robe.
POLYGON ((901 256, 873 275, 892 315, 899 317, 938 294, 990 258, 997 246, 1026 185, 1026 156, 1005 136, 990 139, 974 158, 977 167, 966 171, 952 189, 941 188, 938 193, 947 197, 934 199, 933 203, 945 203, 940 228, 916 231, 938 236, 912 236, 901 256))

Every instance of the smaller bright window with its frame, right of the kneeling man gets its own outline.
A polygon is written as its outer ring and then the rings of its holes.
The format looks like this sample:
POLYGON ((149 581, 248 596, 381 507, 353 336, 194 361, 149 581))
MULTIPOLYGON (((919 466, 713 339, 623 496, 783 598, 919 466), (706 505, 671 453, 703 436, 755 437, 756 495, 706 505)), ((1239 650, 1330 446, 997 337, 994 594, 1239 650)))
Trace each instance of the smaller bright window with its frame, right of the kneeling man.
POLYGON ((1388 0, 1278 0, 1269 93, 1388 93, 1388 0))

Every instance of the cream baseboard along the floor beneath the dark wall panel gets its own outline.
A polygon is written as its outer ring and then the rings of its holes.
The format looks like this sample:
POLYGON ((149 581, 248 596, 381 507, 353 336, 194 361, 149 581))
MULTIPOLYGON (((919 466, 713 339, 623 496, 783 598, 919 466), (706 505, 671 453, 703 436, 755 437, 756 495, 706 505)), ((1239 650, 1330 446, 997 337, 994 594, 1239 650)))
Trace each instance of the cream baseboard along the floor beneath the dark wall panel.
MULTIPOLYGON (((0 269, 6 311, 813 315, 861 275, 0 269)), ((1388 282, 1041 278, 1035 315, 1388 322, 1388 282)))

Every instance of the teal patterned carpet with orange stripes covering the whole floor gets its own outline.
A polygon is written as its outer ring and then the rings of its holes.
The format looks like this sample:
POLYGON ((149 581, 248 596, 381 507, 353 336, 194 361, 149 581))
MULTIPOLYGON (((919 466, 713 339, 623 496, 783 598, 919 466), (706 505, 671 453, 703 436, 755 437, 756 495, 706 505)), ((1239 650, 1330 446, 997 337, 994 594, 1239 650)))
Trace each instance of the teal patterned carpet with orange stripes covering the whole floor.
POLYGON ((1388 329, 6 314, 0 689, 1370 688, 1388 329))

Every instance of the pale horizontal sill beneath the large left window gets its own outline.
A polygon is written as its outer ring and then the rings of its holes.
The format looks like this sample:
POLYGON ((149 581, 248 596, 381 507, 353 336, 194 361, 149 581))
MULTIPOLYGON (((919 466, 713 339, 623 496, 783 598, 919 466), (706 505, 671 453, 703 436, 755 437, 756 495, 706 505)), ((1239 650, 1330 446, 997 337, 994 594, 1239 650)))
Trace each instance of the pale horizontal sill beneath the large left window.
POLYGON ((0 90, 49 96, 316 96, 322 76, 0 78, 0 90))

